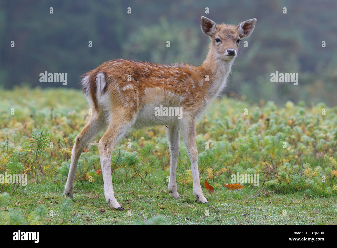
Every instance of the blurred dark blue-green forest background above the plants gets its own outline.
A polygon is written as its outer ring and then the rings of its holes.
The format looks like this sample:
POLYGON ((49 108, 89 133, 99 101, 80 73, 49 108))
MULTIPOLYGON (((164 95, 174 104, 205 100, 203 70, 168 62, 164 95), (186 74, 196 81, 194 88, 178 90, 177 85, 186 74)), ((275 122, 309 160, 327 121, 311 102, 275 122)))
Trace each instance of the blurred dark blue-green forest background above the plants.
POLYGON ((334 0, 1 0, 0 87, 80 88, 82 74, 115 58, 200 65, 210 42, 200 29, 201 16, 235 25, 256 18, 223 93, 251 103, 336 106, 336 6, 334 0), (68 84, 40 83, 45 71, 68 73, 68 84), (270 82, 276 71, 299 73, 299 84, 270 82))

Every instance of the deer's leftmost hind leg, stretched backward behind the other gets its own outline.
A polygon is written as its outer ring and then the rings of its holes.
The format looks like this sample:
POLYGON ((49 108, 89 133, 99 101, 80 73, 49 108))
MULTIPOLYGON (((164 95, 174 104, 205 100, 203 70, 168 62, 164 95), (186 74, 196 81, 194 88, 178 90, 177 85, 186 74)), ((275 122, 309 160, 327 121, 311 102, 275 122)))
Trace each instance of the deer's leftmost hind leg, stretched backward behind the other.
POLYGON ((86 147, 88 142, 105 126, 105 121, 103 116, 99 115, 92 116, 87 125, 82 129, 82 131, 76 136, 74 145, 71 150, 71 162, 69 167, 69 174, 67 178, 67 183, 64 187, 64 194, 66 197, 73 198, 74 191, 74 180, 76 174, 77 164, 83 149, 86 147))

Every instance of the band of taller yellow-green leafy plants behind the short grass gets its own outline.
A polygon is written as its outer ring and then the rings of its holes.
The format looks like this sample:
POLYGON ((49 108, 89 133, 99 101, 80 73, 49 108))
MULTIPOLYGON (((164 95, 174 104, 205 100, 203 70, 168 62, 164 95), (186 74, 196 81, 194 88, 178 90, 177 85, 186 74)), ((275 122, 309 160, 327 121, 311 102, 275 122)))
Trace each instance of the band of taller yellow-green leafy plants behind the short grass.
MULTIPOLYGON (((22 114, 0 116, 2 174, 21 174, 35 159, 36 168, 29 173, 31 176, 38 182, 63 184, 68 176, 73 140, 88 113, 82 93, 62 89, 17 89, 4 94, 18 96, 11 98, 16 100, 11 100, 10 105, 20 109, 22 114), (26 94, 35 95, 38 102, 23 103, 22 95, 26 94), (50 94, 54 101, 57 99, 57 108, 50 94), (66 107, 69 104, 75 111, 66 107), (41 123, 40 118, 35 117, 41 112, 49 112, 50 118, 44 119, 44 129, 34 129, 41 123), (29 129, 34 131, 27 142, 29 129), (45 130, 52 132, 49 134, 45 130), (50 141, 54 144, 52 148, 50 141)), ((8 108, 9 104, 5 104, 0 111, 6 113, 8 108)), ((208 180, 213 187, 219 188, 231 183, 231 175, 237 172, 259 174, 259 188, 264 190, 300 191, 310 197, 335 195, 336 116, 336 108, 322 103, 308 108, 290 101, 284 107, 271 101, 259 106, 229 99, 215 101, 196 128, 201 181, 208 180), (326 115, 321 114, 323 107, 326 115), (248 115, 243 114, 245 108, 248 108, 248 115)), ((101 135, 94 138, 80 157, 75 180, 83 187, 87 183, 103 182, 97 149, 101 135)), ((158 180, 167 183, 170 152, 165 127, 131 130, 115 147, 111 164, 114 184, 130 181, 153 188, 158 180)), ((190 161, 184 144, 181 144, 178 158, 177 184, 184 191, 192 187, 190 161)), ((1 191, 9 191, 11 186, 3 184, 0 187, 1 191)), ((30 187, 29 182, 27 187, 30 187)))

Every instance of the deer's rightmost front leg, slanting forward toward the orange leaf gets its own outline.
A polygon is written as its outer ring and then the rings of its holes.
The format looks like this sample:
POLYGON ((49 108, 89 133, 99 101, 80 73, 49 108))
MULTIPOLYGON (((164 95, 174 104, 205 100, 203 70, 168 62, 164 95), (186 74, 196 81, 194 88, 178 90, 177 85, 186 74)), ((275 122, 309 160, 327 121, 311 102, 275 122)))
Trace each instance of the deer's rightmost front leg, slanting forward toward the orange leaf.
POLYGON ((183 129, 184 142, 187 147, 187 153, 191 161, 192 176, 193 176, 193 193, 200 203, 208 203, 200 185, 199 170, 198 170, 198 151, 195 143, 195 120, 187 121, 187 125, 183 129))

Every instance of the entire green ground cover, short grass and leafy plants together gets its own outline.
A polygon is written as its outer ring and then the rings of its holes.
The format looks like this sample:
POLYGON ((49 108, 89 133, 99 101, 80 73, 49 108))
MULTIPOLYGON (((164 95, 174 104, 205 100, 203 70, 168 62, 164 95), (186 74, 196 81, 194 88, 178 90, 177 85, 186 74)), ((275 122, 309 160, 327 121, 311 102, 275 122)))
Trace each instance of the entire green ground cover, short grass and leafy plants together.
POLYGON ((125 209, 116 211, 104 198, 95 144, 103 133, 81 155, 74 201, 64 199, 71 147, 88 115, 81 91, 17 87, 0 99, 0 175, 28 175, 14 194, 17 185, 0 184, 0 224, 337 224, 336 107, 214 101, 196 127, 207 205, 193 195, 183 142, 175 200, 167 192, 165 127, 132 129, 112 154, 115 196, 125 209), (223 187, 238 172, 258 174, 259 186, 223 187))

